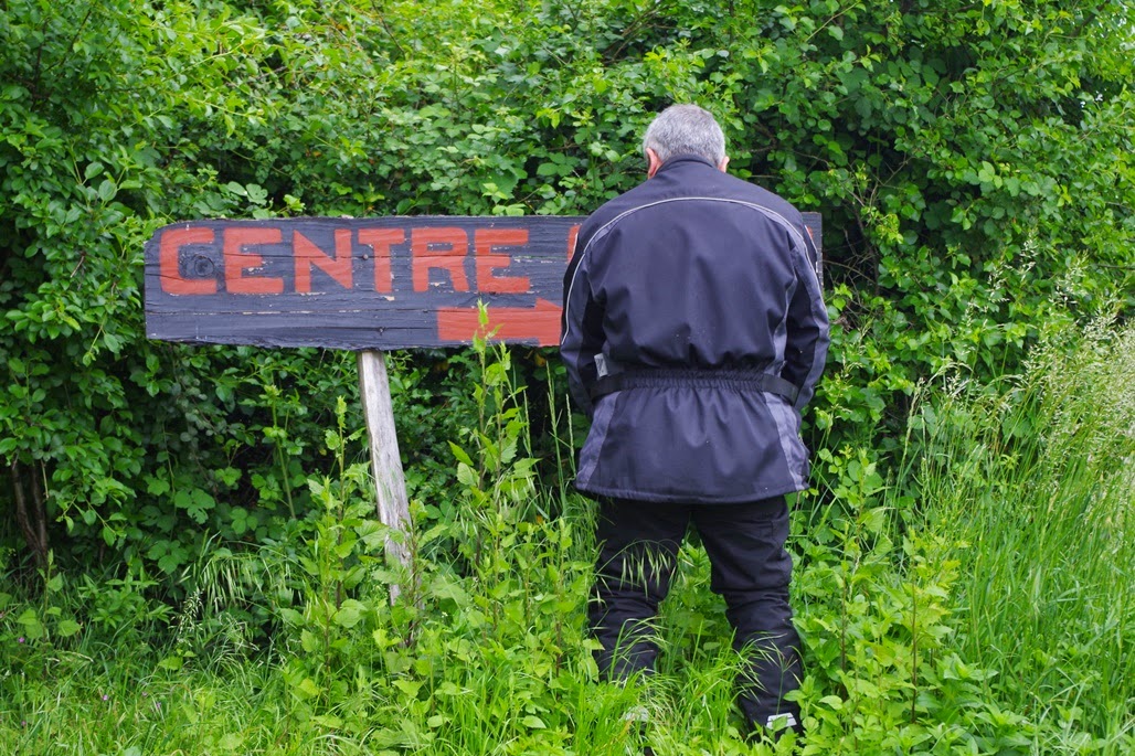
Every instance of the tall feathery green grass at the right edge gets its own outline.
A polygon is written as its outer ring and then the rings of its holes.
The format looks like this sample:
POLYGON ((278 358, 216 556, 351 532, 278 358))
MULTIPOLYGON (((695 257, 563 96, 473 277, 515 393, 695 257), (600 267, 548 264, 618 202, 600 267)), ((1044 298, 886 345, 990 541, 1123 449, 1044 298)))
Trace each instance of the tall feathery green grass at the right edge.
POLYGON ((1000 390, 927 402, 914 465, 961 564, 959 654, 1050 726, 1036 753, 1135 744, 1135 328, 1054 339, 1000 390))

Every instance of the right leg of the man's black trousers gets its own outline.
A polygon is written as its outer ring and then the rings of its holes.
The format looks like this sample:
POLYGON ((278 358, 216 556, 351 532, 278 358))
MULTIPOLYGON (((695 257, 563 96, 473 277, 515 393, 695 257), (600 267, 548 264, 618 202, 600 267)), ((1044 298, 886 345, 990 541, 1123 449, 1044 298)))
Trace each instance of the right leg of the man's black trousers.
POLYGON ((748 660, 739 680, 741 709, 758 726, 784 714, 792 715, 789 724, 799 723, 799 706, 783 699, 799 688, 802 673, 788 600, 792 557, 784 551, 784 497, 697 507, 693 521, 709 556, 711 587, 725 599, 734 646, 748 660))

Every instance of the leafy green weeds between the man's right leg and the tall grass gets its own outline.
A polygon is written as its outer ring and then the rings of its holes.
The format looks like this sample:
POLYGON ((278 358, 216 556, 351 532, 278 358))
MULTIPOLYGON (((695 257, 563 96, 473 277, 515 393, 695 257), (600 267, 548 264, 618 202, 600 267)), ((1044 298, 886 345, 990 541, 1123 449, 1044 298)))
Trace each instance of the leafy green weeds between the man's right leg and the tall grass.
POLYGON ((859 462, 841 472, 850 506, 813 513, 793 539, 805 753, 1028 753, 1035 724, 999 706, 994 672, 956 650, 957 545, 908 530, 908 503, 859 462), (857 478, 872 488, 855 501, 857 478))

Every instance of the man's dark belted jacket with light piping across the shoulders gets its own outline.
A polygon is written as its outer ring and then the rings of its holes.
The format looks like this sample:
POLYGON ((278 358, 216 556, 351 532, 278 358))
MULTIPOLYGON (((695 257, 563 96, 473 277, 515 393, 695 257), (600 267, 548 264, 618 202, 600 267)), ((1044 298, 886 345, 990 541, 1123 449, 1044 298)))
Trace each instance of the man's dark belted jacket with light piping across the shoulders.
POLYGON ((792 205, 693 156, 591 215, 560 345, 591 415, 575 486, 697 503, 806 488, 799 411, 829 341, 817 257, 792 205), (640 380, 592 402, 600 373, 621 371, 640 380), (794 385, 794 402, 755 386, 759 373, 794 385))

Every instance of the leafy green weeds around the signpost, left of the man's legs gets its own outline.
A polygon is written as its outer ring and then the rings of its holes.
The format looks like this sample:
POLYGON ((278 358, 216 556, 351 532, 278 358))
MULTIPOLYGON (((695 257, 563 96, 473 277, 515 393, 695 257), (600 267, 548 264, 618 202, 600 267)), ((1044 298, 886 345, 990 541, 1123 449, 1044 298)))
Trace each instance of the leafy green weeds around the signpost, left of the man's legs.
POLYGON ((473 354, 479 412, 459 434, 470 452, 452 447, 454 506, 415 498, 409 535, 375 520, 365 468, 344 460, 358 431, 346 430, 339 400, 338 430, 328 436, 333 473, 309 482, 319 509, 279 552, 286 565, 272 570, 291 576, 293 591, 274 612, 283 620, 283 675, 305 726, 368 733, 392 748, 506 738, 553 726, 564 716, 554 691, 596 674, 581 637, 589 541, 575 516, 550 511, 566 502, 535 489, 507 350, 478 339, 473 354), (388 562, 392 535, 410 539, 409 566, 388 562), (392 583, 400 586, 393 602, 392 583), (462 694, 504 684, 513 691, 480 704, 462 694), (385 721, 390 709, 398 722, 385 721), (487 715, 502 731, 463 732, 463 719, 487 715))

